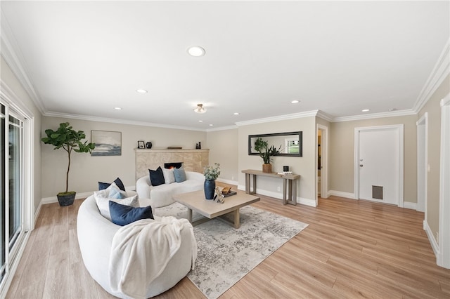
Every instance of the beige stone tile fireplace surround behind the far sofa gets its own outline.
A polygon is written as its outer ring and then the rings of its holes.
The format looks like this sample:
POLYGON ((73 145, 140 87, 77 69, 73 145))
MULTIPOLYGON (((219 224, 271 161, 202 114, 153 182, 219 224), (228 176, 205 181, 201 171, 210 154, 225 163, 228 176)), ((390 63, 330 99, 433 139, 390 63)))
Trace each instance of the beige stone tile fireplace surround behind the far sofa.
POLYGON ((203 173, 209 164, 210 150, 142 150, 136 149, 136 180, 165 163, 181 162, 186 171, 203 173))

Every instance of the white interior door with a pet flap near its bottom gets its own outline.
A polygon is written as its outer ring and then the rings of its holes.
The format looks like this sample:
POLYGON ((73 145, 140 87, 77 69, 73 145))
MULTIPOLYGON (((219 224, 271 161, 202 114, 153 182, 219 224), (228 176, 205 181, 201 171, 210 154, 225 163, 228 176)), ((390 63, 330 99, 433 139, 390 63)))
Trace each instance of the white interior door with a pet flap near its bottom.
MULTIPOLYGON (((394 126, 359 128, 357 175, 359 199, 400 204, 400 132, 394 126)), ((402 188, 402 187, 401 187, 402 188)), ((401 205, 403 206, 403 205, 401 205)))

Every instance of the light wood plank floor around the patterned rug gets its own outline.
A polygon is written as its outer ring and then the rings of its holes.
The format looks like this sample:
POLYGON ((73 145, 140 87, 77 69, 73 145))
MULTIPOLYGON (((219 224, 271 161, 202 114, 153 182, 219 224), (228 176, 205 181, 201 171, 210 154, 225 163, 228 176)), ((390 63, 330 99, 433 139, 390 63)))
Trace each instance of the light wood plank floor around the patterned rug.
MULTIPOLYGON (((42 207, 7 298, 112 298, 91 279, 77 244, 73 206, 42 207)), ((257 208, 309 224, 225 298, 450 298, 450 270, 438 267, 422 229, 423 213, 330 197, 319 206, 257 208)), ((182 279, 158 298, 204 298, 182 279)))

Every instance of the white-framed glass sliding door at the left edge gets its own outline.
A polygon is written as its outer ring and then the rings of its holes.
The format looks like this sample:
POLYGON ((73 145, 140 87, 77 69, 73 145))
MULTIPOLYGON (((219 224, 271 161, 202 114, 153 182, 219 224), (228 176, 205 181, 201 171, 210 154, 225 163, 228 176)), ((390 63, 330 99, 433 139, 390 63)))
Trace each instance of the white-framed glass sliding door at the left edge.
POLYGON ((0 298, 34 228, 34 135, 32 112, 0 80, 0 298))

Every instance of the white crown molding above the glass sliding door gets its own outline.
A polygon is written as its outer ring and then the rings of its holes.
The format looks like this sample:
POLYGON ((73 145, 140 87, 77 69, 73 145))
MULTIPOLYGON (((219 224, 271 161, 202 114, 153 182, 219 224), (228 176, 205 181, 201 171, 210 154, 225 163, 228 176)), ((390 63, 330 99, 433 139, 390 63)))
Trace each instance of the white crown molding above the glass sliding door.
POLYGON ((6 63, 11 67, 11 71, 15 74, 15 77, 20 81, 20 84, 22 84, 25 91, 27 91, 28 95, 30 95, 30 98, 34 102, 34 105, 36 105, 37 109, 39 109, 39 112, 44 114, 46 112, 46 107, 44 105, 44 102, 42 102, 41 98, 39 97, 39 94, 37 91, 34 90, 31 77, 28 75, 29 72, 27 72, 27 69, 25 67, 25 59, 23 59, 23 55, 20 52, 20 48, 17 45, 17 42, 15 41, 13 32, 11 31, 11 27, 9 27, 8 22, 6 21, 6 17, 1 11, 0 6, 0 14, 1 14, 1 34, 0 34, 0 40, 1 40, 1 57, 4 58, 6 63))

